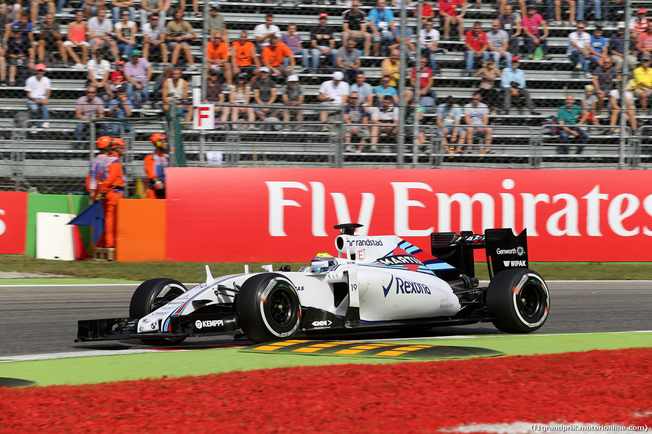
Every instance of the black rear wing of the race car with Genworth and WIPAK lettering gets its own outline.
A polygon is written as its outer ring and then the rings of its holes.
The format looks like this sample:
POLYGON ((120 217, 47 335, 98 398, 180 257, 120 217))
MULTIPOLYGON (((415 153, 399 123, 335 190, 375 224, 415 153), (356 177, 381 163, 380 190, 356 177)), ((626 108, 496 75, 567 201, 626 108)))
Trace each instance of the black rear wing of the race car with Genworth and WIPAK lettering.
POLYGON ((510 268, 529 268, 527 229, 514 235, 510 228, 485 229, 484 235, 472 231, 433 232, 432 255, 457 268, 460 274, 475 277, 473 250, 484 249, 489 278, 510 268))

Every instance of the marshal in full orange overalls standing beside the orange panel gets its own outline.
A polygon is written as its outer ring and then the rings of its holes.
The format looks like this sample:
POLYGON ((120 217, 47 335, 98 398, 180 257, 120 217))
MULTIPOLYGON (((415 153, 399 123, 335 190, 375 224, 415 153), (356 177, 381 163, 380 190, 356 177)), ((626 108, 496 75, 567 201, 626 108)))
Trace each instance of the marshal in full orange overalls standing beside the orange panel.
POLYGON ((115 248, 115 209, 119 199, 125 196, 126 177, 120 162, 120 157, 125 154, 125 142, 113 139, 110 147, 100 192, 104 194, 104 245, 115 248))

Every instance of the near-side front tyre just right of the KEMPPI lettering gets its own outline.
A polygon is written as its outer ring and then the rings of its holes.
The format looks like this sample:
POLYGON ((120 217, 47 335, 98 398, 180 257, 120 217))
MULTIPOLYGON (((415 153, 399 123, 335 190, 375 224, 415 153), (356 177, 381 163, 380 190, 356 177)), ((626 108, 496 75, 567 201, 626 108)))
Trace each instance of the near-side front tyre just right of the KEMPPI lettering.
POLYGON ((297 289, 282 274, 261 273, 245 280, 237 310, 243 333, 256 343, 290 338, 301 323, 297 289))

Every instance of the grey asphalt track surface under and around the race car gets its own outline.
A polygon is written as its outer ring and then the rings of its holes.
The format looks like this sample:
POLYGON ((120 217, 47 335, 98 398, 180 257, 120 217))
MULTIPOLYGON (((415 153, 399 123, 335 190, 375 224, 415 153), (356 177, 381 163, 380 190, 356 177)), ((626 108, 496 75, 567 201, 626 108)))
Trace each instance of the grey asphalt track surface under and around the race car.
MULTIPOLYGON (((147 348, 139 340, 75 343, 78 319, 128 316, 137 285, 0 286, 0 356, 147 348)), ((540 333, 650 330, 652 281, 548 282, 550 317, 540 333)), ((433 328, 427 336, 496 334, 490 323, 433 328)), ((346 335, 408 338, 408 332, 346 335)), ((418 336, 426 336, 419 334, 418 336)), ((233 336, 190 338, 181 345, 233 343, 233 336)), ((338 336, 342 339, 342 335, 338 336)), ((243 343, 246 343, 244 341, 243 343)))

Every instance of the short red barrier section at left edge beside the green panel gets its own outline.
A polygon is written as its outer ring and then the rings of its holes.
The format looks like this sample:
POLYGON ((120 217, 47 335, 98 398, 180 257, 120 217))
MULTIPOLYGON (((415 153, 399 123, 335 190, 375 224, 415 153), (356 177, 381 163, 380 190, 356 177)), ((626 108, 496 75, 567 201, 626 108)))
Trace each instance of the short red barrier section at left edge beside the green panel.
POLYGON ((0 192, 0 253, 25 254, 27 193, 0 192))

